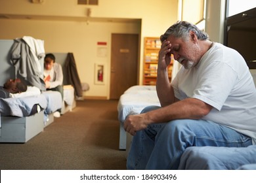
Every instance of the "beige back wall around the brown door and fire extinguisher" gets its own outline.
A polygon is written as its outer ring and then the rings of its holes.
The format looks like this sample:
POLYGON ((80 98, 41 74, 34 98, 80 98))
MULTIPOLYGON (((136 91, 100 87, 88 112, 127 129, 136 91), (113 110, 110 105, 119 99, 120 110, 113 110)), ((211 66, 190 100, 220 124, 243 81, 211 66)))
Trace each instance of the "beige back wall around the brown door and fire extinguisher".
MULTIPOLYGON (((0 14, 42 16, 36 19, 0 18, 0 39, 32 36, 45 41, 46 52, 73 52, 81 82, 90 90, 86 97, 109 97, 110 48, 112 33, 138 33, 144 37, 158 37, 177 21, 178 0, 99 0, 98 6, 77 5, 77 0, 1 0, 0 14), (141 21, 86 22, 87 8, 93 18, 134 18, 141 21), (49 18, 50 17, 50 18, 49 18), (51 20, 56 18, 58 20, 51 20), (74 20, 69 20, 72 17, 74 20), (63 19, 64 20, 61 20, 63 19), (66 20, 65 20, 66 19, 66 20), (107 56, 97 56, 96 42, 107 42, 107 56), (106 84, 95 85, 95 63, 106 64, 106 84)), ((125 43, 124 43, 125 44, 125 43)), ((140 46, 140 76, 142 83, 143 44, 140 46)))

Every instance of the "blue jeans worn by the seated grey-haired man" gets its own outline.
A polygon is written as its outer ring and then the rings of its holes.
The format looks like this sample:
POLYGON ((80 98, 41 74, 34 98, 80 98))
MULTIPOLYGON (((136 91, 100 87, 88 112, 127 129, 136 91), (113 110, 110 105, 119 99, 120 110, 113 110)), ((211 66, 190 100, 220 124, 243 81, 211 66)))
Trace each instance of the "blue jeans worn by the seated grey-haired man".
MULTIPOLYGON (((159 107, 146 107, 142 112, 159 107)), ((127 158, 127 169, 178 169, 189 146, 245 147, 251 137, 206 120, 173 120, 137 131, 127 158)))

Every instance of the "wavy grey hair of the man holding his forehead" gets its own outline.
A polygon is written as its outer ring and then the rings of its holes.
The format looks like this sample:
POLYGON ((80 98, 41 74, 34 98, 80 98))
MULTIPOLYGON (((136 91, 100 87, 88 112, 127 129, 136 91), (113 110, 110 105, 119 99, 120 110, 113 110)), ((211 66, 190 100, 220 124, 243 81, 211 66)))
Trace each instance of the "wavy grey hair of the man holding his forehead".
POLYGON ((190 24, 186 21, 178 21, 177 23, 171 25, 163 35, 161 35, 161 42, 165 41, 170 35, 177 38, 182 38, 183 40, 188 39, 189 32, 192 31, 196 34, 199 40, 207 40, 209 36, 204 31, 198 29, 196 25, 190 24))

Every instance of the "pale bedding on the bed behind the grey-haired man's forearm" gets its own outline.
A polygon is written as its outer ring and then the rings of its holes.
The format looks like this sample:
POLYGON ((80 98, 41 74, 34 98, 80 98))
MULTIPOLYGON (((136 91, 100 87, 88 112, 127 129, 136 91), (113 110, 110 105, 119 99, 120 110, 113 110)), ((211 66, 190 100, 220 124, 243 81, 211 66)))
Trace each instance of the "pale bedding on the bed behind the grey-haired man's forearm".
POLYGON ((139 114, 150 105, 160 106, 156 86, 132 86, 119 98, 118 120, 123 123, 127 115, 139 114))

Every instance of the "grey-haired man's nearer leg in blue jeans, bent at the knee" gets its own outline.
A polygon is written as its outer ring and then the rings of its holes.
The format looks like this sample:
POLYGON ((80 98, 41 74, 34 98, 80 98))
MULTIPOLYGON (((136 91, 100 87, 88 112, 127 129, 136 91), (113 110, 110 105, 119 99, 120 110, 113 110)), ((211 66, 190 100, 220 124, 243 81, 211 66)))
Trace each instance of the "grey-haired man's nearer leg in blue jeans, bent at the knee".
POLYGON ((205 120, 173 120, 156 135, 146 169, 178 169, 181 155, 189 146, 245 147, 251 138, 205 120))

